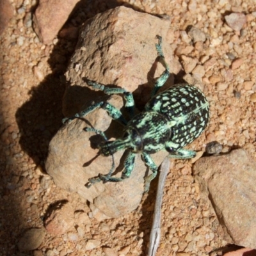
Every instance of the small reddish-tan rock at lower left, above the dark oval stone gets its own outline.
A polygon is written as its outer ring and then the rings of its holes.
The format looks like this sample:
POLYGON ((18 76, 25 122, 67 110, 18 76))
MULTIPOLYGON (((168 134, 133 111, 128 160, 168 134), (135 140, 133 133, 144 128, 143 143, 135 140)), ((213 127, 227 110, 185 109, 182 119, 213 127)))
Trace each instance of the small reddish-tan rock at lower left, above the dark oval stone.
POLYGON ((70 204, 56 205, 51 214, 45 218, 47 232, 60 236, 67 232, 74 223, 74 211, 70 204))

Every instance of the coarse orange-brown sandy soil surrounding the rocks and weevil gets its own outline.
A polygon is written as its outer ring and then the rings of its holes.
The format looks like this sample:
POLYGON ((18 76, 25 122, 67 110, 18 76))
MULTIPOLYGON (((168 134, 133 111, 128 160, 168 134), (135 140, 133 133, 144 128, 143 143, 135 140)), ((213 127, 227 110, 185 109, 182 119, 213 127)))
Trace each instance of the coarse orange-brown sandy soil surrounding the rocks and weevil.
MULTIPOLYGON (((30 22, 35 1, 25 2, 22 12, 22 1, 13 0, 17 13, 0 37, 0 255, 145 255, 157 180, 131 214, 101 222, 91 218, 82 230, 74 225, 62 236, 46 234, 34 252, 21 253, 17 249, 25 230, 44 226, 44 216, 54 202, 68 200, 73 209, 83 210, 92 217, 86 202, 56 188, 44 172, 49 141, 63 118, 63 74, 76 40, 59 38, 52 45, 41 44, 30 22), (97 244, 97 248, 88 250, 90 243, 97 244)), ((256 13, 253 11, 256 4, 253 2, 82 1, 68 23, 79 26, 96 13, 124 3, 146 12, 170 15, 173 36, 169 43, 177 57, 188 51, 198 63, 209 56, 216 58, 216 65, 202 76, 204 92, 211 102, 211 122, 205 134, 189 148, 201 150, 207 142, 218 140, 224 150, 243 147, 255 159, 256 13), (225 25, 224 16, 230 12, 246 14, 247 22, 241 32, 225 25), (187 39, 180 32, 188 25, 196 26, 209 37, 206 48, 200 44, 188 48, 187 39), (233 67, 237 58, 242 61, 239 67, 233 67)), ((176 161, 168 174, 157 255, 221 255, 214 250, 227 244, 210 205, 200 198, 191 165, 190 161, 176 161)))

